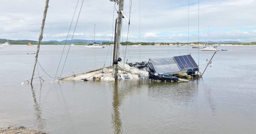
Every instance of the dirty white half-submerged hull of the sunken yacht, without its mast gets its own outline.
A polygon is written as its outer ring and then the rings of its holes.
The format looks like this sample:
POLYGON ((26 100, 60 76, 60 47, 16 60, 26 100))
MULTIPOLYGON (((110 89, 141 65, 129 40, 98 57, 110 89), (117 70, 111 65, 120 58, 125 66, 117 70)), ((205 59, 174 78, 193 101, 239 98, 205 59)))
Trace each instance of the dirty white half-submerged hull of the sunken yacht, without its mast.
MULTIPOLYGON (((118 80, 138 80, 141 77, 149 78, 152 80, 161 80, 161 81, 175 81, 175 82, 188 82, 188 80, 180 79, 175 76, 167 74, 152 74, 148 71, 143 71, 135 67, 131 67, 128 64, 118 62, 118 80)), ((61 80, 70 80, 70 81, 105 81, 111 82, 115 81, 113 75, 113 66, 106 68, 99 68, 92 71, 87 71, 80 74, 74 74, 69 77, 64 77, 61 80)))

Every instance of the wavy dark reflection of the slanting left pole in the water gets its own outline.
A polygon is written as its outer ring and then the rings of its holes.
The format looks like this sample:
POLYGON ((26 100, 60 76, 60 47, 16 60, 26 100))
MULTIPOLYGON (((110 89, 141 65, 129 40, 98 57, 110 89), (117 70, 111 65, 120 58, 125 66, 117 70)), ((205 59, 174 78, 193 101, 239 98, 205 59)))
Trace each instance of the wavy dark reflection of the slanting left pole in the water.
MULTIPOLYGON (((41 88, 42 86, 40 86, 40 97, 39 99, 41 98, 41 88)), ((33 97, 33 100, 34 100, 34 109, 35 109, 35 117, 36 117, 36 123, 35 123, 35 127, 38 129, 38 130, 42 130, 46 123, 44 121, 44 119, 42 119, 42 111, 41 111, 41 108, 40 108, 40 104, 38 103, 37 99, 36 99, 36 95, 35 95, 35 90, 33 88, 33 86, 31 85, 31 91, 32 91, 32 97, 33 97)), ((40 100, 39 100, 40 102, 40 100)))

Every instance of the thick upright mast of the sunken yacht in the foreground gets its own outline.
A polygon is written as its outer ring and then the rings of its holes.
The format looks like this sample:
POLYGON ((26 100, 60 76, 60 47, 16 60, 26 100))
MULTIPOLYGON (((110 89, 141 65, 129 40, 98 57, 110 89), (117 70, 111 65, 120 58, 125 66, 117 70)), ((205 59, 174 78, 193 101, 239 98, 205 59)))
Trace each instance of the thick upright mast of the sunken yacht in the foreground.
POLYGON ((117 63, 116 61, 119 58, 119 46, 120 46, 120 37, 121 37, 121 29, 122 29, 122 12, 123 11, 123 6, 124 6, 124 0, 110 0, 114 1, 117 4, 119 4, 119 9, 118 9, 118 18, 117 18, 117 26, 116 26, 116 38, 115 38, 115 44, 114 44, 114 58, 113 58, 113 74, 115 77, 115 80, 118 79, 118 69, 117 69, 117 63))

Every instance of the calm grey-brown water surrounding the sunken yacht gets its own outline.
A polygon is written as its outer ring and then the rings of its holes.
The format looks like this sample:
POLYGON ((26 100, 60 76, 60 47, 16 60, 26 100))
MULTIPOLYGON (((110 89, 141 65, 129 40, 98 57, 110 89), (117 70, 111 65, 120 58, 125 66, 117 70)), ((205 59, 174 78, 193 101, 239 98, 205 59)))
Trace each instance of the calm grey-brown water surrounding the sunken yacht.
MULTIPOLYGON (((63 76, 73 74, 71 71, 102 67, 108 47, 71 46, 63 76)), ((203 79, 189 83, 150 80, 53 83, 53 78, 43 77, 42 86, 39 79, 31 86, 20 83, 31 77, 35 54, 27 53, 34 53, 36 46, 5 46, 0 49, 0 127, 26 126, 52 134, 255 133, 256 46, 221 48, 228 51, 215 55, 203 79)), ((61 45, 41 46, 38 61, 50 76, 55 76, 62 49, 61 45)), ((125 59, 148 61, 148 58, 187 54, 187 50, 176 46, 128 47, 130 55, 125 59)), ((120 57, 124 51, 121 47, 120 57)), ((198 49, 189 47, 189 53, 198 63, 198 49)), ((205 64, 212 54, 199 51, 199 64, 205 64)), ((65 57, 57 75, 64 60, 65 57)), ((105 66, 110 61, 108 55, 105 66)), ((47 76, 41 68, 39 74, 47 76)))

